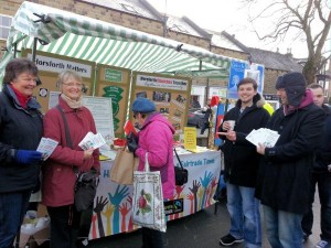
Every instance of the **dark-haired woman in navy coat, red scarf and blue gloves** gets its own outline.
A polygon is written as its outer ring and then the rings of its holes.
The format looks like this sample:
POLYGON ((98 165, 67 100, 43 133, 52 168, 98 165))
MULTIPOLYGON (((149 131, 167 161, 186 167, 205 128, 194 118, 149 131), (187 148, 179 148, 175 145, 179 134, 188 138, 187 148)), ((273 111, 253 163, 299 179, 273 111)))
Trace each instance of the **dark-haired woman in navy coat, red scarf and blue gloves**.
POLYGON ((38 67, 28 58, 6 66, 0 93, 0 248, 20 230, 32 190, 39 183, 43 133, 41 106, 32 97, 38 67))

